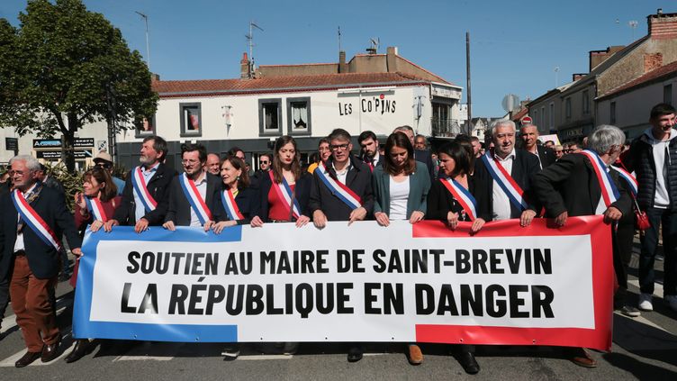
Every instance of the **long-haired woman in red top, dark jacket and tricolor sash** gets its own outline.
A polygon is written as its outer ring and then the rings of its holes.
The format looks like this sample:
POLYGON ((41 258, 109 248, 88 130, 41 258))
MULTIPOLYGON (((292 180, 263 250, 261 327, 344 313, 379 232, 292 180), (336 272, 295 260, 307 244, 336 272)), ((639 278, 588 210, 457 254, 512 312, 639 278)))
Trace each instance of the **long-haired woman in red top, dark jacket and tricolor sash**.
POLYGON ((311 174, 301 168, 296 141, 284 135, 275 141, 273 167, 261 177, 258 202, 254 207, 251 226, 264 222, 295 222, 301 227, 311 221, 308 200, 311 194, 311 174))

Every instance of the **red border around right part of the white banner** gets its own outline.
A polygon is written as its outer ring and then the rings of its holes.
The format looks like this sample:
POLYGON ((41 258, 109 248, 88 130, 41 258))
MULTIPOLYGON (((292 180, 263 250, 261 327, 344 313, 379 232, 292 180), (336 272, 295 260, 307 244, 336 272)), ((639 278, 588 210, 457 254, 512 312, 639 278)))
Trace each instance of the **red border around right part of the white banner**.
MULTIPOLYGON (((610 350, 614 274, 611 228, 603 223, 602 219, 601 215, 570 217, 562 228, 548 227, 552 220, 545 219, 534 220, 526 228, 519 227, 519 220, 487 222, 476 234, 483 237, 589 236, 592 249, 594 329, 418 324, 416 325, 416 340, 433 343, 556 345, 610 350)), ((413 225, 412 235, 415 238, 467 237, 470 233, 470 226, 470 222, 459 222, 456 231, 451 231, 442 222, 418 222, 413 225)))

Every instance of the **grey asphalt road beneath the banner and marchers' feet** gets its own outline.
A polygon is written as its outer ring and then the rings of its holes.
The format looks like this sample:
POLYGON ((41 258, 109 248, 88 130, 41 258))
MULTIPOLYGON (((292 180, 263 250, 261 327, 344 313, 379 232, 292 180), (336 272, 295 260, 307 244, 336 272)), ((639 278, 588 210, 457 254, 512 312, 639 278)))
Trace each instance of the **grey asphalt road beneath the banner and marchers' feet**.
MULTIPOLYGON (((635 253, 633 268, 636 260, 635 253)), ((657 277, 662 277, 662 261, 656 262, 656 269, 657 277)), ((636 269, 631 270, 630 285, 636 299, 636 269)), ((38 360, 29 367, 15 368, 14 361, 23 356, 25 348, 9 307, 0 335, 0 379, 677 380, 677 313, 662 303, 660 285, 656 287, 654 312, 635 319, 614 314, 613 348, 609 353, 593 352, 599 362, 597 368, 577 367, 564 358, 561 349, 552 347, 483 346, 477 348, 482 370, 475 376, 465 374, 445 345, 421 345, 425 361, 413 367, 404 357, 403 347, 392 344, 368 345, 365 358, 349 364, 347 347, 341 344, 302 343, 293 356, 280 354, 274 345, 245 345, 237 360, 225 361, 221 344, 111 341, 96 346, 77 363, 67 364, 63 358, 72 344, 73 298, 67 282, 59 284, 58 295, 59 326, 64 334, 61 357, 48 364, 38 360)))

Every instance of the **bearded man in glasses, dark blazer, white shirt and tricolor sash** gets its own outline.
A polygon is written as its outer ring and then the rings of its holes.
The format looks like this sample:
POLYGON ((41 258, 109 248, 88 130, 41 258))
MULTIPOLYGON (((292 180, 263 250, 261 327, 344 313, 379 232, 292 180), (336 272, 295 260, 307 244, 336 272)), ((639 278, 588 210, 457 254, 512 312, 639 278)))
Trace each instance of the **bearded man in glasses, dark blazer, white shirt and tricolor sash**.
POLYGON ((179 174, 172 180, 169 186, 169 204, 167 206, 167 215, 165 223, 162 225, 165 229, 174 231, 176 226, 194 226, 203 227, 208 231, 213 222, 226 220, 221 203, 221 179, 215 176, 208 176, 205 170, 207 164, 207 150, 202 144, 184 144, 181 146, 181 163, 184 166, 184 173, 179 174), (197 212, 193 209, 185 196, 183 186, 181 186, 180 177, 193 180, 195 188, 204 204, 207 205, 211 220, 204 223, 198 218, 197 212))

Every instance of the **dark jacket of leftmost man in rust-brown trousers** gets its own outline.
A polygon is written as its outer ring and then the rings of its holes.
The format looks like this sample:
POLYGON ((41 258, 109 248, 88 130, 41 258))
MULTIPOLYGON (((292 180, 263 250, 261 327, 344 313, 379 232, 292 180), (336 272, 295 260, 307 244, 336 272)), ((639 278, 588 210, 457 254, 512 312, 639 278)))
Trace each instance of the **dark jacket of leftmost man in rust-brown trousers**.
MULTIPOLYGON (((31 206, 59 239, 66 235, 71 249, 82 245, 73 215, 66 208, 63 194, 50 187, 42 186, 40 195, 31 206)), ((10 194, 0 197, 0 210, 3 211, 0 213, 0 279, 5 279, 14 264, 14 243, 18 221, 18 213, 10 194)), ((61 258, 59 252, 38 238, 29 225, 23 227, 23 245, 28 266, 35 277, 47 279, 59 274, 59 259, 61 258)))

